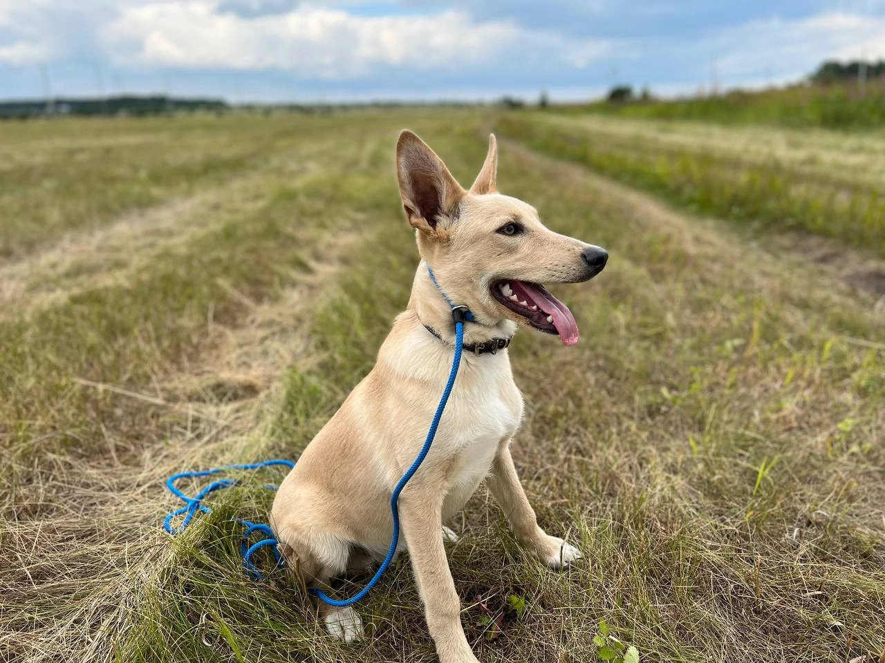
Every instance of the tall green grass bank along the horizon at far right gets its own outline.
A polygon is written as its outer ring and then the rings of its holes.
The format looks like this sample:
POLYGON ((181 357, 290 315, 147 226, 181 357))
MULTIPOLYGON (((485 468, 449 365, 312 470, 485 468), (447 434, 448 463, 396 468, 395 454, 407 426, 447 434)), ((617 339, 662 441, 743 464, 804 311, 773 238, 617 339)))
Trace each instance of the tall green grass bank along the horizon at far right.
POLYGON ((581 110, 624 118, 868 130, 880 128, 885 122, 885 89, 875 80, 868 85, 866 95, 860 95, 853 83, 797 85, 673 101, 595 103, 581 110))

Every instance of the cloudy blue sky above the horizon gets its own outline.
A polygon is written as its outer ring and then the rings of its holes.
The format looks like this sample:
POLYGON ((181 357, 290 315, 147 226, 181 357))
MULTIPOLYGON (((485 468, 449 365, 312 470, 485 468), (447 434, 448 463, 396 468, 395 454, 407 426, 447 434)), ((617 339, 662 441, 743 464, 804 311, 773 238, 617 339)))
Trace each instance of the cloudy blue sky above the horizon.
POLYGON ((0 0, 0 99, 664 96, 885 58, 885 0, 0 0))

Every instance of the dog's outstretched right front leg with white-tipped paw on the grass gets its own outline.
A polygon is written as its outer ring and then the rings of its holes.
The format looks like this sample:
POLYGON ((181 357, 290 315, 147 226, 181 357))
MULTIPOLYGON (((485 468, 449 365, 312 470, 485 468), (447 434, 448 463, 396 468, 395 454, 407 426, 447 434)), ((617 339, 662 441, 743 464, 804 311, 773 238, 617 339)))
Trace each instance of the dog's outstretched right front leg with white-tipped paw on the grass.
POLYGON ((501 445, 486 480, 497 503, 504 509, 513 533, 522 545, 550 568, 564 568, 581 558, 581 551, 559 537, 550 537, 538 527, 535 509, 528 503, 526 492, 510 454, 510 441, 501 445))

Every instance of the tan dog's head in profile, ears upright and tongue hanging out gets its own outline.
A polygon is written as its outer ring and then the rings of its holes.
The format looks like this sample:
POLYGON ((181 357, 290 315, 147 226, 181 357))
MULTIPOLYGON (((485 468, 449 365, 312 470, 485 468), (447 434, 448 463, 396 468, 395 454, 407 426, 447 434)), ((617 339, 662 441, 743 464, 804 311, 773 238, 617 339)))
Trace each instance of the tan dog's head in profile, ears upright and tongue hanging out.
POLYGON ((446 292, 477 322, 503 319, 578 341, 572 312, 542 284, 578 283, 603 270, 604 249, 552 232, 534 207, 496 188, 497 148, 469 191, 443 160, 410 131, 396 143, 396 174, 421 257, 446 292))

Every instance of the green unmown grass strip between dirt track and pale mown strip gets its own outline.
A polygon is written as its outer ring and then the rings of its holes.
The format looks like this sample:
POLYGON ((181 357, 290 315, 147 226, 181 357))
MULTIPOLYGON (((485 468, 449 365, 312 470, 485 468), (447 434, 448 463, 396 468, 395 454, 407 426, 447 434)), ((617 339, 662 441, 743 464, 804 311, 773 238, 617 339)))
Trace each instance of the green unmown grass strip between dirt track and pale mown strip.
POLYGON ((606 125, 510 115, 501 130, 534 149, 567 158, 660 194, 690 211, 763 231, 801 230, 885 255, 885 191, 863 176, 795 164, 773 152, 735 151, 612 135, 606 125))

